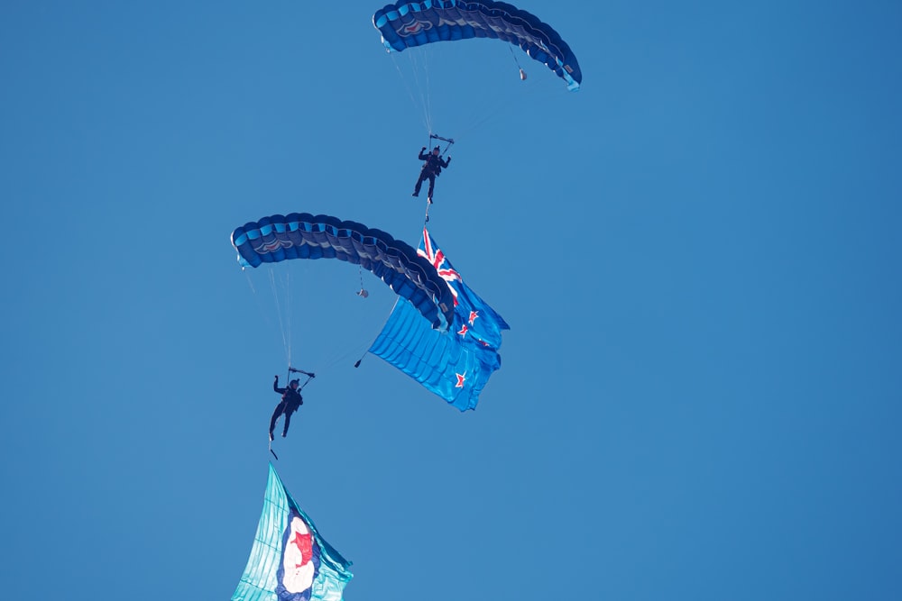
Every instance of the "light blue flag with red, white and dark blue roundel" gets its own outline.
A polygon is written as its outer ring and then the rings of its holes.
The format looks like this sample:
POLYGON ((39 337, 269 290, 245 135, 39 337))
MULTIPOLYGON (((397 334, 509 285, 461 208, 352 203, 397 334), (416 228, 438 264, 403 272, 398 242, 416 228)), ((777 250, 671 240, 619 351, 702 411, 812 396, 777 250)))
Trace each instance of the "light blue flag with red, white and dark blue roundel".
POLYGON ((232 601, 341 601, 350 567, 319 536, 271 463, 251 557, 232 601))

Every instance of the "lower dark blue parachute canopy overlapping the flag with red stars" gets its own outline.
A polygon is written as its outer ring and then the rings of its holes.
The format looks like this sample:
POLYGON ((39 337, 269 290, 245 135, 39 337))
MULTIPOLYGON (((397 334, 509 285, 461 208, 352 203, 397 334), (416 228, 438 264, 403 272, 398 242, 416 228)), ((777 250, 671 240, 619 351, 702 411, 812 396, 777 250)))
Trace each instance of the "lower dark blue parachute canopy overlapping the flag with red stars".
POLYGON ((361 223, 308 213, 272 215, 232 232, 244 267, 289 259, 337 259, 372 271, 432 327, 454 320, 454 296, 436 268, 406 242, 361 223))

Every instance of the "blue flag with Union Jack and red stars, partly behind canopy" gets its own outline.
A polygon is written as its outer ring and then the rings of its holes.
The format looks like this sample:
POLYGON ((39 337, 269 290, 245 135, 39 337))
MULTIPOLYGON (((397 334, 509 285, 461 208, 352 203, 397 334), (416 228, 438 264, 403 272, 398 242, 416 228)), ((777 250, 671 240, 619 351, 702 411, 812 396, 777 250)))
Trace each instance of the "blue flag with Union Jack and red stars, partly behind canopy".
POLYGON ((455 293, 452 327, 437 332, 410 303, 399 299, 370 352, 459 410, 474 409, 492 373, 501 368, 498 348, 502 330, 510 326, 465 285, 426 228, 419 253, 455 293))

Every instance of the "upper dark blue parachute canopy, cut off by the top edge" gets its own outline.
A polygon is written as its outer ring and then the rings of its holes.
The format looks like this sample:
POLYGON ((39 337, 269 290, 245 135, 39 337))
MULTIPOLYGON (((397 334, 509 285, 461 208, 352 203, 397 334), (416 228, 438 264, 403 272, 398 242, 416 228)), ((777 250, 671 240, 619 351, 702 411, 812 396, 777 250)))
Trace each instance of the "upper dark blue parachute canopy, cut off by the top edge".
POLYGON ((566 41, 547 23, 516 6, 492 0, 400 0, 373 14, 382 44, 401 51, 434 41, 493 38, 520 46, 578 90, 583 72, 566 41))

